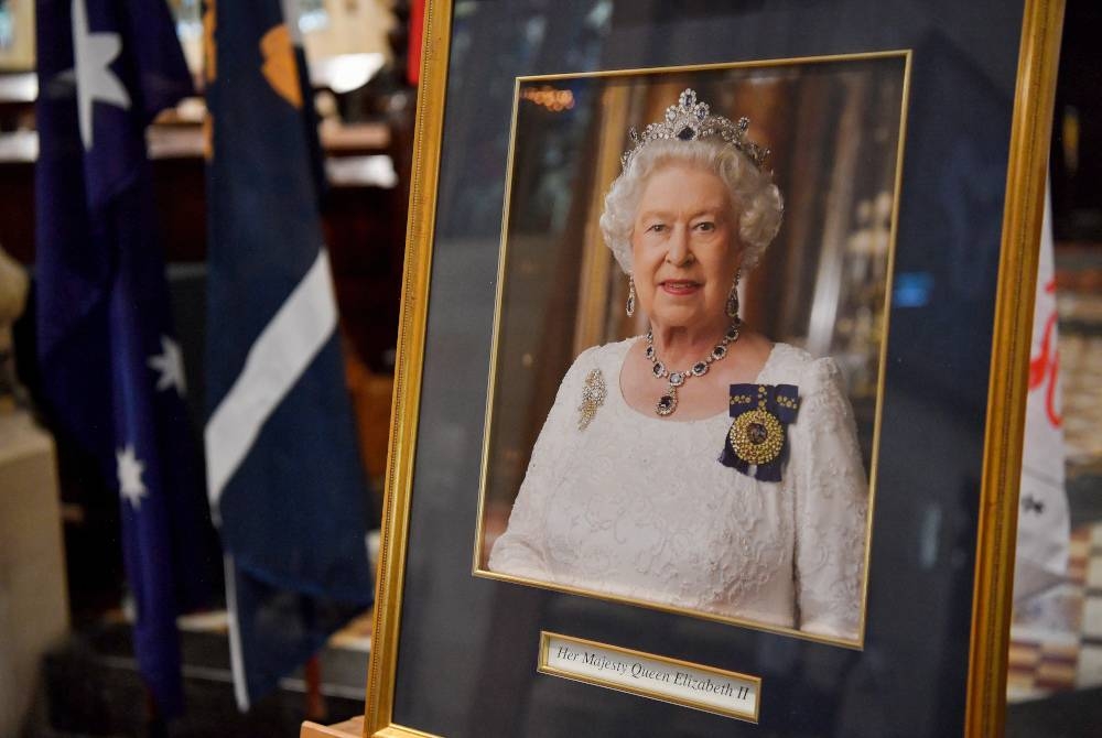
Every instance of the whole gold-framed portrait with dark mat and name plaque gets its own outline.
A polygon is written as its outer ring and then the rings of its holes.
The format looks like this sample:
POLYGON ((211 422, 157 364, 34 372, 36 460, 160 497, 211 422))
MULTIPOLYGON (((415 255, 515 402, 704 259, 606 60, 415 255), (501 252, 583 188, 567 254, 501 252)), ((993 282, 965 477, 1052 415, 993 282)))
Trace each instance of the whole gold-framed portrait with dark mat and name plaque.
POLYGON ((426 3, 366 735, 990 735, 1062 3, 426 3))

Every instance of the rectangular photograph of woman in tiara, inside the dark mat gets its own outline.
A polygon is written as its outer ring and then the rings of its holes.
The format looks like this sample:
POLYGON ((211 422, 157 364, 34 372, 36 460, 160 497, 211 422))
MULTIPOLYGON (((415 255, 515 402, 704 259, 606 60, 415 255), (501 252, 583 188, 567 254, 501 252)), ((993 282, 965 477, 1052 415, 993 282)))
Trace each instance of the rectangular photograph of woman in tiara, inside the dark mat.
POLYGON ((860 644, 906 61, 518 82, 476 574, 860 644))

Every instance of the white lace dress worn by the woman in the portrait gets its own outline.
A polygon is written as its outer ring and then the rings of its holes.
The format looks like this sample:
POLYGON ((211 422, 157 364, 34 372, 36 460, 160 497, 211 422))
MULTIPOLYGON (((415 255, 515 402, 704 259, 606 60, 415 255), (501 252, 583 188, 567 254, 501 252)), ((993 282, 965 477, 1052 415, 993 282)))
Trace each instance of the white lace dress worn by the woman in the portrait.
POLYGON ((669 421, 619 389, 633 340, 566 372, 490 571, 856 640, 868 485, 832 359, 777 344, 758 375, 796 384, 781 481, 720 464, 731 417, 669 421), (607 388, 579 430, 586 376, 607 388))

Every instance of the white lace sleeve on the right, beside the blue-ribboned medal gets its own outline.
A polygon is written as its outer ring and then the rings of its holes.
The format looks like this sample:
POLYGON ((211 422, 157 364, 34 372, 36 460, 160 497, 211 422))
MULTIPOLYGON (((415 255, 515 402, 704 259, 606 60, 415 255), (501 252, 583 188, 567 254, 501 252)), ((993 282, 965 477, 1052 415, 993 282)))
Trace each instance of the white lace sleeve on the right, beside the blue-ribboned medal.
POLYGON ((820 636, 856 639, 868 484, 853 410, 833 359, 810 365, 800 394, 792 456, 800 627, 820 636))

